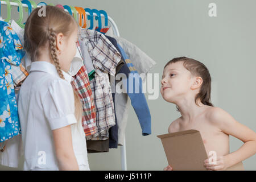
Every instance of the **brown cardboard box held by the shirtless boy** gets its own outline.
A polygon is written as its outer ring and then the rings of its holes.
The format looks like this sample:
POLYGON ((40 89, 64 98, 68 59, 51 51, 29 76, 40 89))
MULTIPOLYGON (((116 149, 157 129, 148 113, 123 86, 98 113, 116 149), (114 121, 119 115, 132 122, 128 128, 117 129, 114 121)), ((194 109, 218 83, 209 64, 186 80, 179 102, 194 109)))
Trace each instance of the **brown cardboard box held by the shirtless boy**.
MULTIPOLYGON (((207 171, 204 160, 208 155, 200 131, 185 130, 157 137, 162 140, 168 164, 174 171, 207 171)), ((243 164, 238 163, 227 170, 243 170, 243 164)))

